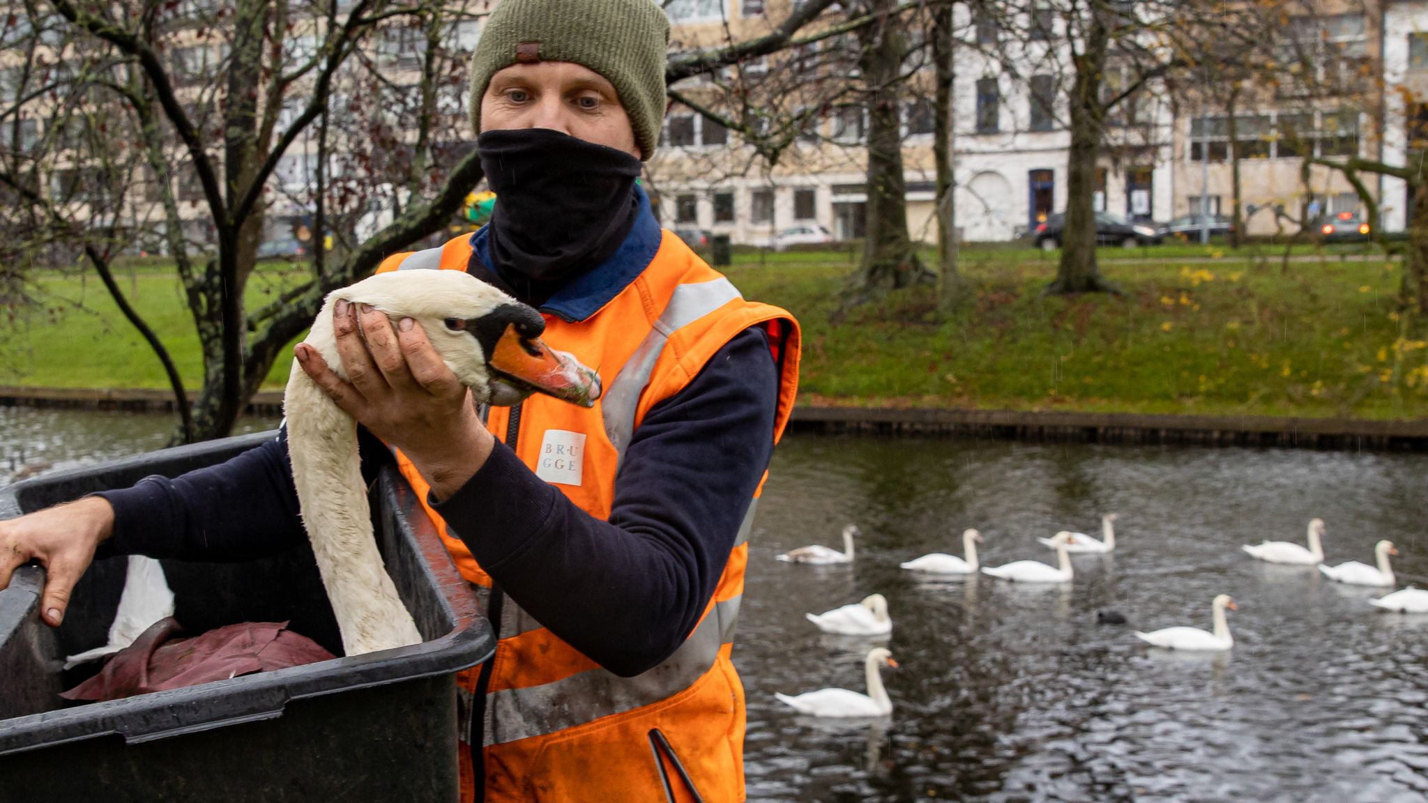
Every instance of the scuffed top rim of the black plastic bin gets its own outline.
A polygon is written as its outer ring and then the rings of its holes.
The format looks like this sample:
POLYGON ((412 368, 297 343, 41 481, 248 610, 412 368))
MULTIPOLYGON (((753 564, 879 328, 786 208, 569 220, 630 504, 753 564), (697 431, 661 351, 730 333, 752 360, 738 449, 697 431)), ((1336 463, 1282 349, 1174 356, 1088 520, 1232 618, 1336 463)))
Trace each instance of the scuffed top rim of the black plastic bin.
MULTIPOLYGON (((268 430, 161 449, 0 487, 0 520, 19 516, 21 496, 34 489, 121 470, 153 467, 151 474, 164 473, 164 466, 216 456, 226 459, 228 453, 237 454, 276 434, 277 430, 268 430)), ((488 660, 496 652, 491 626, 478 612, 476 594, 457 572, 436 527, 417 503, 416 492, 394 467, 383 469, 378 486, 378 493, 393 503, 398 529, 423 557, 428 582, 440 592, 444 613, 453 623, 450 632, 393 650, 0 720, 0 756, 109 734, 119 734, 126 743, 140 743, 274 719, 283 716, 288 700, 454 674, 488 660)), ((0 590, 0 644, 11 639, 30 617, 39 617, 43 583, 43 569, 21 567, 10 587, 0 590), (6 613, 7 609, 20 613, 6 613)), ((41 623, 40 627, 47 624, 41 623)))

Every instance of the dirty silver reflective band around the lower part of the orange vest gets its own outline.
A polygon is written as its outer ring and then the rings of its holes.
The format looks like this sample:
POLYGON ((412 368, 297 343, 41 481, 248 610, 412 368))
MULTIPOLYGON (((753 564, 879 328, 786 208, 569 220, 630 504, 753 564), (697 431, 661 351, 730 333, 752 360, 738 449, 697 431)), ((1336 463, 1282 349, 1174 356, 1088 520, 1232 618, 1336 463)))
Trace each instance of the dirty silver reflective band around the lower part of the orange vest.
POLYGON ((714 603, 714 610, 680 649, 644 674, 620 677, 604 669, 590 669, 553 683, 490 694, 486 744, 545 736, 678 694, 704 677, 720 647, 734 640, 740 602, 741 597, 733 597, 714 603))

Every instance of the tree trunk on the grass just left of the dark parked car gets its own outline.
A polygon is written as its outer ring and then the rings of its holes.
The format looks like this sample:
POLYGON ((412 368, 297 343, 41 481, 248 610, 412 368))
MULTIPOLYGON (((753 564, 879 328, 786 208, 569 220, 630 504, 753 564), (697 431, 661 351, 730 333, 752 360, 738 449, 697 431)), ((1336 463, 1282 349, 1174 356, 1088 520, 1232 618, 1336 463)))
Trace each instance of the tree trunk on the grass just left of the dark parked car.
POLYGON ((1092 7, 1087 20, 1084 50, 1072 56, 1071 147, 1067 164, 1067 211, 1061 229, 1061 263, 1051 293, 1097 293, 1111 287, 1095 264, 1095 161, 1101 153, 1105 109, 1101 106, 1101 76, 1105 71, 1108 31, 1092 7))

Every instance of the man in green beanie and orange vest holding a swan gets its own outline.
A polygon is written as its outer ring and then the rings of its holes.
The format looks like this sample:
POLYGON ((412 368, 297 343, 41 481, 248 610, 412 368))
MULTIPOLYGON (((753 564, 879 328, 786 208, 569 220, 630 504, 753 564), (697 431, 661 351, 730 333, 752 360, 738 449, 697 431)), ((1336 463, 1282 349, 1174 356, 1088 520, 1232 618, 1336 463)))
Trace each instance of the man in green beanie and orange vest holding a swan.
MULTIPOLYGON (((547 343, 600 367, 594 409, 537 396, 483 420, 448 376, 414 377, 420 326, 371 310, 336 313, 351 383, 294 350, 363 424, 364 473, 396 453, 497 629, 460 680, 467 800, 744 796, 730 642, 798 329, 661 231, 635 183, 667 43, 651 0, 504 0, 471 63, 491 223, 380 269, 467 270, 537 306, 547 343)), ((59 624, 96 552, 243 559, 303 537, 280 436, 0 523, 0 587, 40 560, 59 624)))

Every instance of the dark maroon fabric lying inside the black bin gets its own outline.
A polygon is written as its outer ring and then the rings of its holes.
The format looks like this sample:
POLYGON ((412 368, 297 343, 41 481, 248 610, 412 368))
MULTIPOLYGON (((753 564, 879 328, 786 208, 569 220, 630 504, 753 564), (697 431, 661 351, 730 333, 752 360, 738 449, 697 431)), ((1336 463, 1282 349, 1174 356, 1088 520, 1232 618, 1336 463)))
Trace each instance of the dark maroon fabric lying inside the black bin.
POLYGON ((109 659, 99 674, 60 696, 119 700, 334 657, 307 636, 288 630, 287 622, 243 622, 193 639, 174 639, 181 632, 173 617, 156 622, 109 659))

